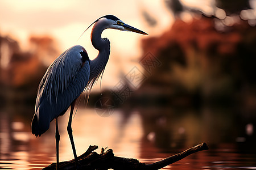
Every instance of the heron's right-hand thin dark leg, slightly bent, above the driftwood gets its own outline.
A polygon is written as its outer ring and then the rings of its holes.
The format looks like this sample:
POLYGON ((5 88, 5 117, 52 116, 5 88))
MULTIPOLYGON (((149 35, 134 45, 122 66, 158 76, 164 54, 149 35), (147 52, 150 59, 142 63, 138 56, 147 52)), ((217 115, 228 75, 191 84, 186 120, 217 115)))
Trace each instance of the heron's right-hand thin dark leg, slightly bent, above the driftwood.
POLYGON ((72 146, 72 150, 73 150, 73 154, 74 154, 74 157, 75 157, 75 163, 76 163, 76 167, 78 165, 78 160, 77 160, 77 156, 76 156, 76 148, 75 148, 75 143, 74 143, 74 140, 73 140, 73 133, 72 133, 72 128, 71 128, 71 123, 72 123, 72 115, 73 115, 73 111, 74 111, 74 108, 75 108, 75 104, 76 104, 76 100, 72 102, 71 104, 71 111, 70 111, 70 115, 69 115, 69 120, 68 120, 68 135, 69 135, 69 139, 70 139, 70 142, 71 142, 71 146, 72 146))

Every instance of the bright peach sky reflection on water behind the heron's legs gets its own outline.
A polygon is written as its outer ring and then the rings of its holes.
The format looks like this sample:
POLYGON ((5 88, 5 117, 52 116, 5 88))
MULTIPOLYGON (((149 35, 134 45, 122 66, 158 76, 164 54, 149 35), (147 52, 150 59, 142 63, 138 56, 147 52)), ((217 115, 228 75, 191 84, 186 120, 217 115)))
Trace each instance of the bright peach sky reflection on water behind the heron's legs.
MULTIPOLYGON (((68 118, 69 111, 59 118, 60 161, 73 159, 72 147, 67 133, 68 118)), ((83 154, 89 145, 97 145, 99 148, 112 148, 114 154, 118 156, 139 157, 139 141, 143 132, 141 120, 137 113, 132 114, 128 120, 124 121, 122 114, 118 111, 115 111, 110 117, 100 117, 94 109, 79 108, 72 120, 72 129, 77 155, 83 154)), ((55 154, 54 130, 55 124, 51 122, 50 129, 40 137, 40 142, 42 141, 40 145, 44 145, 44 141, 47 140, 52 155, 55 154)), ((100 150, 96 151, 100 152, 100 150)))

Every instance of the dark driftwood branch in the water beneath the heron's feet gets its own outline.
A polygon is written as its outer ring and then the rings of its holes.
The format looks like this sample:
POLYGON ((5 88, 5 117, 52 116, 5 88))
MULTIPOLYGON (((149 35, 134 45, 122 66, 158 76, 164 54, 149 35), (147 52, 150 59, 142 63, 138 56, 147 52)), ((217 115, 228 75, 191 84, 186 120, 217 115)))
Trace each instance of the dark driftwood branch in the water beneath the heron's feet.
MULTIPOLYGON (((98 146, 89 146, 88 150, 78 157, 79 169, 160 169, 195 152, 208 150, 207 144, 201 143, 179 154, 160 160, 159 162, 145 164, 139 162, 137 159, 114 156, 112 149, 105 151, 106 148, 102 148, 101 153, 97 154, 97 152, 94 152, 97 148, 98 146)), ((43 169, 56 169, 56 163, 52 163, 43 169)), ((67 162, 60 162, 60 169, 76 169, 75 160, 72 159, 67 162)))

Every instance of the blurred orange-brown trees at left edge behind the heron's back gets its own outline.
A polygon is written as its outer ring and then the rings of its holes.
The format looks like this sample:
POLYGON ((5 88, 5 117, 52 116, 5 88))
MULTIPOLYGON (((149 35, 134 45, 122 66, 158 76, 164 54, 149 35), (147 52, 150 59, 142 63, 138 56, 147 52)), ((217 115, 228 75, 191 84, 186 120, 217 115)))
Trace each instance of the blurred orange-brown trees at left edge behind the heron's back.
POLYGON ((30 51, 19 42, 0 35, 0 98, 3 103, 32 102, 47 65, 59 54, 48 36, 30 37, 30 51))

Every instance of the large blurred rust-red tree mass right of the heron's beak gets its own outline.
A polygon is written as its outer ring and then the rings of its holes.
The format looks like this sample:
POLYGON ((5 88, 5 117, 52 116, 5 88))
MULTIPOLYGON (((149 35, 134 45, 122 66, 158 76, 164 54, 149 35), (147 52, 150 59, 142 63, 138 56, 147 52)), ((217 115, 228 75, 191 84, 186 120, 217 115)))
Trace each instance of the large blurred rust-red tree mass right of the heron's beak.
POLYGON ((151 71, 139 93, 151 89, 170 104, 192 103, 198 96, 204 102, 229 104, 244 87, 256 89, 255 29, 241 22, 218 32, 214 23, 215 18, 207 17, 190 23, 176 20, 162 36, 143 40, 144 53, 151 52, 162 65, 151 71), (177 100, 184 96, 186 100, 177 100))

